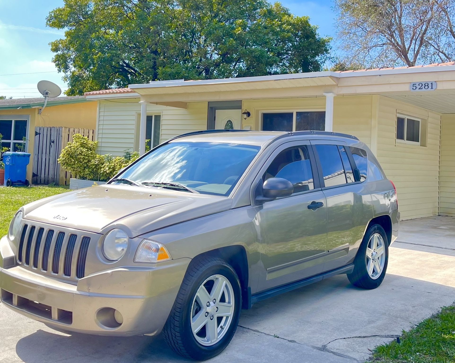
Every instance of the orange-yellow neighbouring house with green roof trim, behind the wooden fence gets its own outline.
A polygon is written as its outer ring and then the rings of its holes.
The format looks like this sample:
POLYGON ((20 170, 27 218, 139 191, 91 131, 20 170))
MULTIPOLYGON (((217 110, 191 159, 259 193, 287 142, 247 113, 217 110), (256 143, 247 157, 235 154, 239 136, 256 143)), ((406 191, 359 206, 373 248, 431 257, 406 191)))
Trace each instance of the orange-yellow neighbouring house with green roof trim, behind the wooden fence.
MULTIPOLYGON (((49 146, 47 150, 35 150, 35 138, 39 136, 35 135, 36 127, 45 127, 46 131, 50 131, 51 127, 60 126, 81 129, 95 129, 96 126, 97 103, 84 96, 49 98, 44 110, 43 106, 43 97, 0 100, 0 134, 3 135, 1 146, 17 151, 17 146, 25 143, 25 151, 31 154, 26 176, 29 181, 32 181, 33 170, 36 171, 38 167, 38 154, 41 160, 47 161, 47 164, 42 164, 43 172, 47 173, 52 165, 57 168, 56 160, 49 160, 49 152, 56 145, 55 137, 49 142, 45 141, 49 146), (23 137, 26 141, 23 141, 23 137)), ((54 153, 54 159, 55 156, 58 157, 57 153, 54 153)))

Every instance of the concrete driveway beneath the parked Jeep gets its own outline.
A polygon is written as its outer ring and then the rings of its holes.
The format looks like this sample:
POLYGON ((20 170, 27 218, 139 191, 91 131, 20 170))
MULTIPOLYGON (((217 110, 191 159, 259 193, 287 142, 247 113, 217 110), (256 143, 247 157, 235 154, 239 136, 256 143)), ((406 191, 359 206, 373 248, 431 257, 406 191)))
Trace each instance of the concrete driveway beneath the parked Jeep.
MULTIPOLYGON (((376 290, 345 275, 243 311, 228 348, 211 362, 363 362, 455 300, 455 218, 401 223, 387 276, 376 290)), ((161 337, 58 333, 0 305, 0 362, 179 362, 161 337)))

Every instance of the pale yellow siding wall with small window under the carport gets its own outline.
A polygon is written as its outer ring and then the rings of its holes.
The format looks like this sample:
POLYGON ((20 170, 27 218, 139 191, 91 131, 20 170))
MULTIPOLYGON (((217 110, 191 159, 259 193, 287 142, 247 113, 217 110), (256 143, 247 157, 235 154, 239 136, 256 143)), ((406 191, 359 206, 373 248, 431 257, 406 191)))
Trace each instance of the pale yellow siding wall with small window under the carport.
POLYGON ((438 215, 440 125, 439 113, 379 96, 377 157, 397 188, 401 219, 438 215), (427 146, 397 144, 397 112, 428 120, 427 146))

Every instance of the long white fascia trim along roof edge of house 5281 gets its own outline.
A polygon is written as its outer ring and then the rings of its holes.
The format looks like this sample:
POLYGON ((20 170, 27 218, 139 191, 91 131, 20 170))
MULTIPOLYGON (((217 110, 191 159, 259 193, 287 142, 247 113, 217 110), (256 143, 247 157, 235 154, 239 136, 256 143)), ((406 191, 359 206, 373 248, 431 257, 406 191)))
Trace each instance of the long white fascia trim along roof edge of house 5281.
POLYGON ((302 78, 316 78, 316 77, 361 77, 361 76, 386 76, 395 74, 412 74, 412 73, 427 73, 427 72, 440 72, 440 71, 455 71, 455 66, 424 66, 415 68, 395 68, 395 69, 382 69, 377 71, 354 71, 354 72, 333 72, 333 71, 320 71, 320 72, 307 72, 307 73, 291 73, 275 76, 256 76, 256 77, 241 77, 241 78, 223 78, 215 80, 199 80, 199 81, 156 81, 152 83, 141 83, 129 85, 128 88, 161 88, 161 87, 178 87, 178 86, 202 86, 212 84, 227 84, 227 83, 243 83, 243 82, 261 82, 261 81, 281 81, 290 79, 302 78))

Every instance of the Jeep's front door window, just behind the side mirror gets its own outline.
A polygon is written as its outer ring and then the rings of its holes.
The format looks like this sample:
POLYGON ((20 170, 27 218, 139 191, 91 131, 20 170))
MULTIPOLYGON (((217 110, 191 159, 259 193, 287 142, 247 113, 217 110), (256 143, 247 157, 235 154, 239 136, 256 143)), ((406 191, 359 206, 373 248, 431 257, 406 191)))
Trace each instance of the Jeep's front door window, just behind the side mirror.
POLYGON ((268 166, 263 181, 273 177, 290 181, 294 186, 294 193, 314 189, 308 146, 296 146, 281 151, 268 166))

